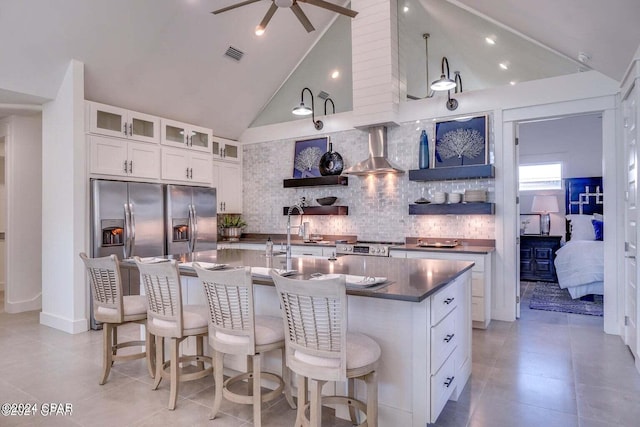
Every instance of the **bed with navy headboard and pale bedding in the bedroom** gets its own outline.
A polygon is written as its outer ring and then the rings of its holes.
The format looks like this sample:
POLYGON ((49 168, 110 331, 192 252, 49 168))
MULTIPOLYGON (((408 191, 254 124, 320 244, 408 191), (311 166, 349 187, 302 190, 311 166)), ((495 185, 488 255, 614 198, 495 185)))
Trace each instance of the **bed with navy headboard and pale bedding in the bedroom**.
POLYGON ((565 180, 566 243, 554 261, 571 298, 604 294, 602 177, 565 180))

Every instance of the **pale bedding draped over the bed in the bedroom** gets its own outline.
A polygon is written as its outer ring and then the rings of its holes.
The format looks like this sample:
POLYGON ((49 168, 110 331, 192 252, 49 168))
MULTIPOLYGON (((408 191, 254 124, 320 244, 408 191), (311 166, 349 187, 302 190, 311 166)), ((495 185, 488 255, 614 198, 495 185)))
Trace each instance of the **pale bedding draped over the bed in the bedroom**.
POLYGON ((604 293, 604 242, 571 240, 556 251, 556 274, 572 298, 604 293))

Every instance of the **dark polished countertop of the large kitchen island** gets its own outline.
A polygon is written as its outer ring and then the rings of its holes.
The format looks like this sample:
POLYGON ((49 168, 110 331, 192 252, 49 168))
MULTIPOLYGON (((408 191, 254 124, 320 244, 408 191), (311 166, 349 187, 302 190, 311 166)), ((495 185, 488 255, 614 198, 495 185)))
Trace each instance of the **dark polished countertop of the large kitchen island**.
MULTIPOLYGON (((284 256, 271 259, 263 251, 246 249, 219 249, 193 254, 170 255, 165 258, 178 262, 212 262, 229 267, 252 266, 286 268, 284 256)), ((131 265, 132 261, 122 261, 131 265)), ((370 257, 361 255, 339 256, 335 261, 324 258, 293 257, 292 268, 296 277, 309 279, 313 273, 351 274, 357 276, 386 277, 388 282, 370 288, 347 287, 347 294, 401 301, 420 302, 449 284, 473 267, 473 262, 433 259, 406 259, 370 257)), ((181 273, 195 275, 190 267, 181 267, 181 273)), ((271 279, 255 277, 255 283, 273 286, 271 279)))

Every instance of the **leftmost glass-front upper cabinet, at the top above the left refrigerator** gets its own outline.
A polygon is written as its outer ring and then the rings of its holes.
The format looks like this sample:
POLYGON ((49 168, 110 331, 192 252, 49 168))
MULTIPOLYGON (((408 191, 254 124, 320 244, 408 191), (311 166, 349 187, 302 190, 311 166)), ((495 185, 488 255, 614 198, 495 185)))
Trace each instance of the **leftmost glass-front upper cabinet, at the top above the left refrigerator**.
POLYGON ((87 110, 90 133, 143 142, 160 141, 159 117, 97 102, 87 102, 87 110))

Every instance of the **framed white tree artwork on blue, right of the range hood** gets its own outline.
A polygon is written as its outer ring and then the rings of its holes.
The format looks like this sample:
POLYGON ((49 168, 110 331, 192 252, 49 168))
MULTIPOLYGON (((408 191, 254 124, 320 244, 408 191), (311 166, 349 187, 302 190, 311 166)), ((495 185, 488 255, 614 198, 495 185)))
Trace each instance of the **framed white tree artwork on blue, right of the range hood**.
POLYGON ((486 165, 489 161, 487 116, 436 122, 434 166, 486 165))

